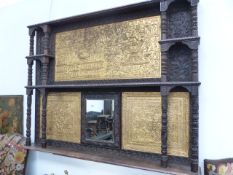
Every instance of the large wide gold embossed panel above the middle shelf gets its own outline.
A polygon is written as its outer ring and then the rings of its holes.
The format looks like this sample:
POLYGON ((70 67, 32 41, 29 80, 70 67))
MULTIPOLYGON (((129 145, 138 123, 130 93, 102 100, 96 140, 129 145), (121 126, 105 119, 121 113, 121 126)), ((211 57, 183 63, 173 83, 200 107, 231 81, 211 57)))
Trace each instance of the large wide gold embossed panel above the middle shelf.
POLYGON ((55 81, 160 78, 160 16, 60 32, 55 81))

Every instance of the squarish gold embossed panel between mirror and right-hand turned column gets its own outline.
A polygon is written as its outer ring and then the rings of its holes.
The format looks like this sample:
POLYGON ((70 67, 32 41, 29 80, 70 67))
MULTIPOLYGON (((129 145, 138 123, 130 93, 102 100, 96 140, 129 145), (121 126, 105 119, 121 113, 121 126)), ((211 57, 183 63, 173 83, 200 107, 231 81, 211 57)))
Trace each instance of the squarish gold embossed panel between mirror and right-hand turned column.
POLYGON ((159 92, 124 92, 122 94, 122 148, 161 153, 159 92))

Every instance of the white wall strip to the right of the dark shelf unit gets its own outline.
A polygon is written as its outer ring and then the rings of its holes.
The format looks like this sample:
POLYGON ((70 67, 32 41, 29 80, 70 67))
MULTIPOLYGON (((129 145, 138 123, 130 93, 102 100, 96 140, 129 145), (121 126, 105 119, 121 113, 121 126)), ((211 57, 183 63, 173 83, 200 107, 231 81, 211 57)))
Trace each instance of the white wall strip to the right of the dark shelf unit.
POLYGON ((233 1, 199 4, 200 163, 233 157, 233 1))

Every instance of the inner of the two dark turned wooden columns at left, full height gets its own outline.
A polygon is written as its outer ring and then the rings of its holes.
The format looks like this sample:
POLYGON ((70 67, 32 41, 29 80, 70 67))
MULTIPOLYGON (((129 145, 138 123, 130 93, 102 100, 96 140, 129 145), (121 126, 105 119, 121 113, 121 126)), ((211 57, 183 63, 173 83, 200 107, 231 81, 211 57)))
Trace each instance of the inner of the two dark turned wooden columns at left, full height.
MULTIPOLYGON (((49 37, 50 37, 50 28, 48 25, 42 27, 44 32, 44 56, 41 58, 41 83, 42 85, 47 85, 48 83, 48 66, 49 66, 49 37)), ((42 95, 42 135, 41 135, 41 146, 46 147, 46 107, 47 107, 47 90, 46 88, 41 89, 42 95)))

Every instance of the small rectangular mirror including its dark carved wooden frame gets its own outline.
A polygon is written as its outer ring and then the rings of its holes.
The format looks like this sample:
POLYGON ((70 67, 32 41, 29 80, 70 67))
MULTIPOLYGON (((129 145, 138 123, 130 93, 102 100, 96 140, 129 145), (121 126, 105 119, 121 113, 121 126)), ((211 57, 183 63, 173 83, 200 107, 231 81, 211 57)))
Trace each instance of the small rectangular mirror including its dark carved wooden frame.
POLYGON ((82 142, 119 146, 119 102, 117 94, 84 94, 82 98, 82 142))

